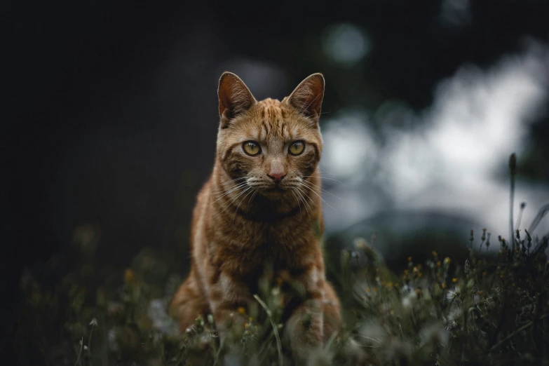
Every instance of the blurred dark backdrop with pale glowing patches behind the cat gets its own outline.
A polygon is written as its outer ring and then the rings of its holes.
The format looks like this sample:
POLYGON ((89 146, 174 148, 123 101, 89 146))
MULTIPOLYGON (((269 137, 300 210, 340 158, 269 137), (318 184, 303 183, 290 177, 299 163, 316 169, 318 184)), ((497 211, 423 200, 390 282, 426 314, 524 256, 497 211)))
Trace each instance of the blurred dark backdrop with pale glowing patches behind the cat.
POLYGON ((470 229, 508 236, 513 151, 515 217, 549 203, 548 1, 185 3, 6 6, 6 317, 22 269, 86 228, 102 266, 151 247, 187 271, 225 70, 257 99, 325 75, 329 250, 377 233, 397 261, 409 245, 468 245, 470 229))

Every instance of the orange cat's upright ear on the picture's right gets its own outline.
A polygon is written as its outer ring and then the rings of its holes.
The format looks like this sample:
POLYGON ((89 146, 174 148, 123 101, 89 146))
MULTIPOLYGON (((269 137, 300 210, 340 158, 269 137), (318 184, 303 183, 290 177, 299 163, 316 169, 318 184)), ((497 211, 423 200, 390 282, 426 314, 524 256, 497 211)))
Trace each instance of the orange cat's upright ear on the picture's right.
POLYGON ((301 81, 286 102, 297 109, 299 113, 318 123, 320 109, 324 98, 324 76, 317 73, 301 81))

